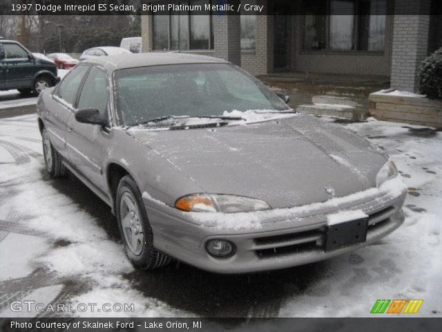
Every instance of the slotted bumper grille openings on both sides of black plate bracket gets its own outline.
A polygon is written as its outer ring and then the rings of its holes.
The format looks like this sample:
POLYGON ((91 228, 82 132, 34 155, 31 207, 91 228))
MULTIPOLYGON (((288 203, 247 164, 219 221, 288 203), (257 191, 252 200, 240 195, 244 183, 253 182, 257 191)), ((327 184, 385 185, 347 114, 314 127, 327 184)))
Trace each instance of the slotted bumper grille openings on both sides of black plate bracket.
MULTIPOLYGON (((369 214, 367 234, 386 225, 394 210, 393 206, 389 206, 369 214)), ((323 251, 326 231, 325 225, 318 225, 317 228, 301 232, 258 237, 253 239, 253 251, 260 259, 298 255, 315 250, 323 251)))

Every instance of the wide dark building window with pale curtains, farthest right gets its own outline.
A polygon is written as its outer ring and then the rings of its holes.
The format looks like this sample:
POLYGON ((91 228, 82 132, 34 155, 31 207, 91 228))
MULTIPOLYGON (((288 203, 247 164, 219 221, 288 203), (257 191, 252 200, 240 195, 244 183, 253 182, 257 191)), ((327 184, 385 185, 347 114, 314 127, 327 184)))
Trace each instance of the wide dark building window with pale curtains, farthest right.
POLYGON ((323 0, 329 15, 305 6, 304 49, 381 51, 385 43, 386 0, 323 0))

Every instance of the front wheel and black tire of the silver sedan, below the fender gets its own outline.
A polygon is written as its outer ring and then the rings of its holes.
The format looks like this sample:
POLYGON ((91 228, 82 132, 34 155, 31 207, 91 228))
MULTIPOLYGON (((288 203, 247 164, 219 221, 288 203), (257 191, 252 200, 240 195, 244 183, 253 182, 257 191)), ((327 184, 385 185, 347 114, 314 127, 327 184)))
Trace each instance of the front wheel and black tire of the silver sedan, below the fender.
POLYGON ((115 199, 119 233, 133 266, 153 270, 169 264, 171 257, 153 247, 153 232, 137 184, 131 176, 119 181, 115 199))

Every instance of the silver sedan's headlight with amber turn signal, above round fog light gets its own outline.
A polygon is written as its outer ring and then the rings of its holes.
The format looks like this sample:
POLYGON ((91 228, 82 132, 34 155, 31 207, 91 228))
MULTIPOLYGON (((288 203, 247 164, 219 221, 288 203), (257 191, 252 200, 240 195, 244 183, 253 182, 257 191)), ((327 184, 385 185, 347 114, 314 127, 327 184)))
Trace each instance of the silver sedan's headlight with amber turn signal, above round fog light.
POLYGON ((191 212, 249 212, 269 210, 270 205, 259 199, 224 194, 191 194, 178 199, 175 208, 191 212))

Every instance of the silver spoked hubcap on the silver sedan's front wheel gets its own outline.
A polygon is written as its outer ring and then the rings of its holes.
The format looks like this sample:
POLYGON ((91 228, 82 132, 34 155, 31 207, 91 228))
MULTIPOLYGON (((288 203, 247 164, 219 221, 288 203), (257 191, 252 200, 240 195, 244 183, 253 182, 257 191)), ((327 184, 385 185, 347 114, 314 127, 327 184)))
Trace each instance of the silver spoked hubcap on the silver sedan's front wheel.
POLYGON ((144 246, 144 234, 141 225, 140 209, 135 197, 130 192, 124 192, 119 202, 119 217, 122 221, 124 239, 128 248, 135 255, 140 255, 144 246))

